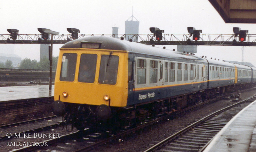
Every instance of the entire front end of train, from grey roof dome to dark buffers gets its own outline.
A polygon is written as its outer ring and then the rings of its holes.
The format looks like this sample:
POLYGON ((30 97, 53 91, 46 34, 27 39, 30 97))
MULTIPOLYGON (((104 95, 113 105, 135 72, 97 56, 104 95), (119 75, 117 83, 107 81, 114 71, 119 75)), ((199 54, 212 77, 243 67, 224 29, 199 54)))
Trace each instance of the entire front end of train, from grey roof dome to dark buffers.
POLYGON ((60 48, 54 114, 78 130, 115 118, 127 105, 128 51, 116 38, 91 36, 60 48))

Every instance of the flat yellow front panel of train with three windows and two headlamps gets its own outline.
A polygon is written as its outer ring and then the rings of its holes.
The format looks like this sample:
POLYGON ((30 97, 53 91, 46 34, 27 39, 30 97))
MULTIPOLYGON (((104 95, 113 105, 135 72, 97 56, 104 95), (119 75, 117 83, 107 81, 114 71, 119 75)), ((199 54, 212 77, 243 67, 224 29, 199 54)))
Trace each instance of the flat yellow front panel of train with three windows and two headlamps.
POLYGON ((126 51, 62 48, 54 100, 64 103, 125 107, 128 89, 126 51), (87 66, 87 67, 86 67, 87 66), (84 69, 91 73, 84 73, 84 69))

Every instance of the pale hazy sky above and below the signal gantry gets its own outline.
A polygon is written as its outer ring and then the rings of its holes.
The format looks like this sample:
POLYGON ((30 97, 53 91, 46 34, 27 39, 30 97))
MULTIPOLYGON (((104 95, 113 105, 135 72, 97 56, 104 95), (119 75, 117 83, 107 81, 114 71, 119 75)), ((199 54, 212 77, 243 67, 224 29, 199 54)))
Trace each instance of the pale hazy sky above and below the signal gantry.
MULTIPOLYGON (((140 21, 139 34, 158 27, 164 33, 188 33, 194 26, 202 33, 233 34, 233 27, 256 34, 255 24, 225 24, 208 0, 0 0, 0 34, 6 29, 18 29, 19 34, 39 34, 37 28, 68 33, 67 27, 80 33, 111 34, 112 27, 124 33, 126 21, 132 15, 140 21)), ((1 44, 1 48, 7 44, 1 44)), ((10 45, 10 44, 8 44, 10 45)), ((53 45, 53 55, 62 45, 53 45)), ((177 48, 174 45, 168 48, 177 48)), ((256 66, 256 47, 244 48, 244 59, 256 66)), ((39 59, 39 45, 14 45, 14 53, 22 59, 39 59)), ((241 61, 240 46, 198 46, 197 55, 220 60, 241 61)))

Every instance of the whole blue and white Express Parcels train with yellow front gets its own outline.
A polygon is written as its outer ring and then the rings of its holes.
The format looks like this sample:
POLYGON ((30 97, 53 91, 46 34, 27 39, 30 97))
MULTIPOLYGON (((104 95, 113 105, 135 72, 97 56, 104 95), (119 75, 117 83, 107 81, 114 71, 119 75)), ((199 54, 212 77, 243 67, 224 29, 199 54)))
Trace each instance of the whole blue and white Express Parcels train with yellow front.
POLYGON ((53 111, 79 130, 130 126, 255 82, 256 67, 90 36, 60 48, 53 111))

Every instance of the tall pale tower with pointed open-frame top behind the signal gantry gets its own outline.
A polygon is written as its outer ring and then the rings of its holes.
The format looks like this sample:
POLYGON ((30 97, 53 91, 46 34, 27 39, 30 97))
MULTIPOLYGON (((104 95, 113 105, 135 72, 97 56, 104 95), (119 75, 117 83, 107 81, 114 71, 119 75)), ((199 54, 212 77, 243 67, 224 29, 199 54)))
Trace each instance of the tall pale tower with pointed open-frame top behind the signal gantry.
POLYGON ((125 39, 129 40, 132 39, 132 41, 138 41, 137 37, 133 37, 134 34, 139 34, 139 25, 140 21, 138 21, 136 18, 134 21, 133 18, 135 18, 133 15, 129 17, 124 23, 125 23, 125 39), (128 21, 130 18, 132 20, 128 21))

